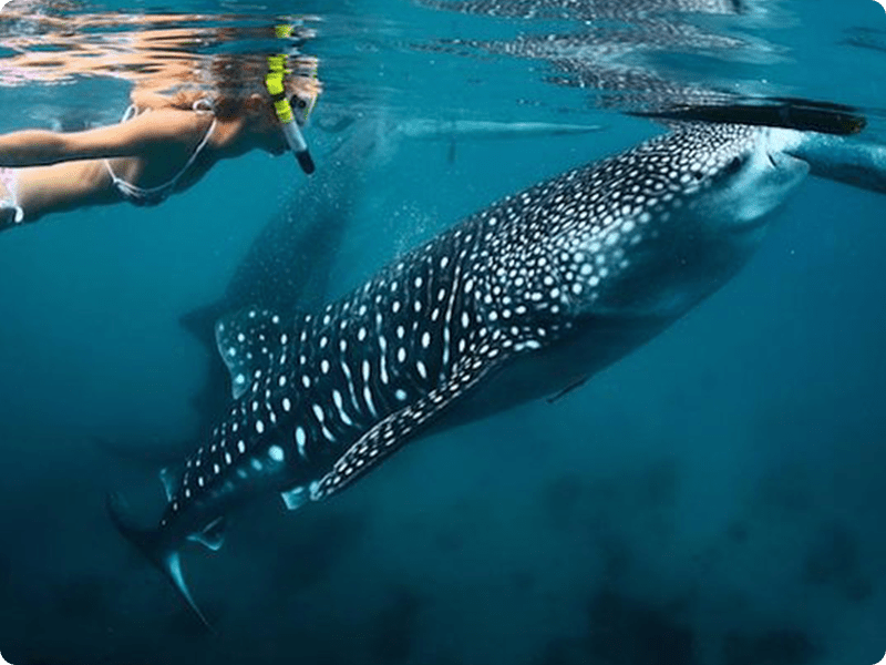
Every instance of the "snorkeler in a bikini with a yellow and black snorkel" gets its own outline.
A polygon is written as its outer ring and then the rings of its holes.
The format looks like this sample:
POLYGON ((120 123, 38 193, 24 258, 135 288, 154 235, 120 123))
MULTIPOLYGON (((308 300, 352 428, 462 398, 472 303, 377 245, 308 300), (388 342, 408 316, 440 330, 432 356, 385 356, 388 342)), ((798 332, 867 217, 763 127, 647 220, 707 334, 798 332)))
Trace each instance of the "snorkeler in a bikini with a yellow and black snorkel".
POLYGON ((136 88, 116 125, 0 136, 0 231, 90 205, 156 205, 253 150, 290 150, 313 171, 300 126, 320 91, 316 78, 234 60, 216 61, 213 74, 209 90, 172 96, 136 88))

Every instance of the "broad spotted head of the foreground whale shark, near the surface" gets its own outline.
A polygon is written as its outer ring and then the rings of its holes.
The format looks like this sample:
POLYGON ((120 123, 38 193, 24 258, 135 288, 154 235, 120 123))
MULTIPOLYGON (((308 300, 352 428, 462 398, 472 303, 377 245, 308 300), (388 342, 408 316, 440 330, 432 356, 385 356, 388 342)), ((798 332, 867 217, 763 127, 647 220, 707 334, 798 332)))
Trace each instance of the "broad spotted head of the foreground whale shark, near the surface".
POLYGON ((588 262, 574 268, 588 309, 673 318, 724 284, 808 173, 785 152, 794 134, 681 125, 588 172, 588 262))

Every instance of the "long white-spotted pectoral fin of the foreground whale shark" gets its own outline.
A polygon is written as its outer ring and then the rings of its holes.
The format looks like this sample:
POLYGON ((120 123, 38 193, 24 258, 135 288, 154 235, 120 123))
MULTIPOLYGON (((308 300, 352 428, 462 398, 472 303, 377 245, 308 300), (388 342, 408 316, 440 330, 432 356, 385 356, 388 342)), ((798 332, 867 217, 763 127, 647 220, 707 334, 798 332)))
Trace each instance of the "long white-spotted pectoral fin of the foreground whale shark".
POLYGON ((495 348, 484 357, 466 358, 443 385, 381 420, 336 461, 329 473, 311 483, 310 499, 319 501, 341 491, 400 450, 501 368, 513 356, 513 348, 495 348))

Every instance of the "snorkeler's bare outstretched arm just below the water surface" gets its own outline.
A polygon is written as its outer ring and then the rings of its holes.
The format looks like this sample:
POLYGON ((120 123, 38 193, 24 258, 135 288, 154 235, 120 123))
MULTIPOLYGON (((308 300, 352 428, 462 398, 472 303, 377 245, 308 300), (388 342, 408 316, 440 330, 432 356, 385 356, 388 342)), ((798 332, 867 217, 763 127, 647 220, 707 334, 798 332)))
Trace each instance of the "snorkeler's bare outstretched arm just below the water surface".
POLYGON ((193 113, 163 110, 85 132, 23 130, 0 136, 0 166, 41 166, 73 160, 141 156, 182 141, 195 127, 193 113))

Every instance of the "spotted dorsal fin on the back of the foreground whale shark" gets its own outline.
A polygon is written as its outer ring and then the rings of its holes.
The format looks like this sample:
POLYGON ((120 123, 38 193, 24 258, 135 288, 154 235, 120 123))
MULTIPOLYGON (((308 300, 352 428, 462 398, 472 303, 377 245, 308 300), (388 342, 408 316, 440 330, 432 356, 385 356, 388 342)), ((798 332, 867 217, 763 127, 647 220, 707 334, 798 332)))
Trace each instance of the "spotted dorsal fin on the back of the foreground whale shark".
POLYGON ((244 309, 216 323, 215 340, 230 372, 234 399, 282 352, 289 340, 284 328, 280 316, 267 309, 244 309))

